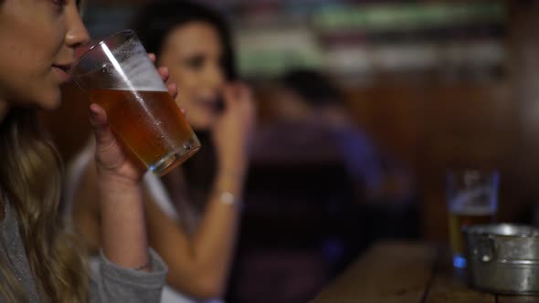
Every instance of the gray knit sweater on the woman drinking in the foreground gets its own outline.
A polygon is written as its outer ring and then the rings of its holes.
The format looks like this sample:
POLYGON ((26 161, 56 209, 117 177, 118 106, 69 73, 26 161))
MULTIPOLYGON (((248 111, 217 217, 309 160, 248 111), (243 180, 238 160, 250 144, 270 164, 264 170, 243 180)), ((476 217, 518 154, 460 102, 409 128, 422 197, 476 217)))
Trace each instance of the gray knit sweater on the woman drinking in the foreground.
MULTIPOLYGON (((19 233, 16 212, 9 204, 5 206, 4 221, 0 222, 0 233, 0 243, 5 244, 0 246, 0 256, 12 264, 16 278, 26 288, 28 301, 40 302, 35 277, 30 270, 19 233)), ((153 250, 150 250, 150 257, 153 271, 147 273, 116 266, 101 254, 99 268, 90 273, 90 302, 159 302, 167 267, 153 250)), ((0 302, 4 301, 0 297, 0 302)))

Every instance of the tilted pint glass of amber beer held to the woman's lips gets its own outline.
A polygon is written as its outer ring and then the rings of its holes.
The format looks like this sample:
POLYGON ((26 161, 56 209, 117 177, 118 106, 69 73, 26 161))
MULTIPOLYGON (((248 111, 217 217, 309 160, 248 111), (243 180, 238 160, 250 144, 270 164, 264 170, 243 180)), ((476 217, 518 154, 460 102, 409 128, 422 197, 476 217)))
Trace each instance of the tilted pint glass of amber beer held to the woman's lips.
POLYGON ((127 152, 163 175, 199 148, 200 142, 132 30, 90 47, 71 77, 91 103, 106 112, 127 152))

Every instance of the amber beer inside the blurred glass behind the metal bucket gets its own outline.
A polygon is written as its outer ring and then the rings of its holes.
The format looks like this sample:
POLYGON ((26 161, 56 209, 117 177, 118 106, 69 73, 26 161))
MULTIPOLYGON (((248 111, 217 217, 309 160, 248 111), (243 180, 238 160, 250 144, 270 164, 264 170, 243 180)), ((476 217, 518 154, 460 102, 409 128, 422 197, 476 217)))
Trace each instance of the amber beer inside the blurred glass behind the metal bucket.
POLYGON ((494 221, 494 216, 494 210, 489 207, 449 211, 449 237, 453 253, 460 256, 464 255, 465 247, 462 227, 490 224, 494 221))

